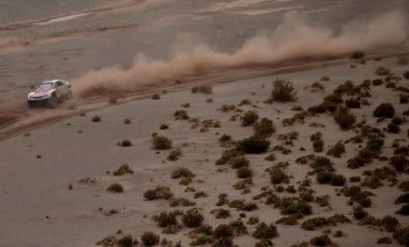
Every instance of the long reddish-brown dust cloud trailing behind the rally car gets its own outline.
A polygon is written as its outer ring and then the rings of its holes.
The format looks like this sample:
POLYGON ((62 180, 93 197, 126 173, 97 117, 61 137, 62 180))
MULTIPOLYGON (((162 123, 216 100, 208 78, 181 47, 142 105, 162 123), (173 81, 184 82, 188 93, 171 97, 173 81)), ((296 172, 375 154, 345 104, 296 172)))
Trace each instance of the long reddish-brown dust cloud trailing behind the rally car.
POLYGON ((379 15, 370 21, 352 21, 335 34, 325 26, 307 25, 297 12, 284 15, 274 31, 264 31, 248 39, 236 52, 222 53, 207 44, 192 42, 188 36, 177 39, 170 59, 152 60, 137 54, 130 69, 107 67, 91 71, 75 80, 82 97, 114 89, 134 89, 143 84, 205 74, 214 70, 271 64, 297 58, 324 58, 348 54, 354 50, 403 44, 408 37, 407 17, 400 12, 379 15))

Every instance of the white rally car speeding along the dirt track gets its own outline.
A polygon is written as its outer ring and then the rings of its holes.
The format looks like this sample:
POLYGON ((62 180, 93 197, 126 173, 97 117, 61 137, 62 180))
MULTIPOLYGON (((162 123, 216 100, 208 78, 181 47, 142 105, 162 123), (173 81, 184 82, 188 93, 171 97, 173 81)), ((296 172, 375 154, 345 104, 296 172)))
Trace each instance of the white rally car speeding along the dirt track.
POLYGON ((36 104, 46 104, 55 108, 59 102, 64 102, 72 97, 71 84, 57 79, 39 84, 35 91, 27 95, 27 103, 30 108, 35 107, 36 104))

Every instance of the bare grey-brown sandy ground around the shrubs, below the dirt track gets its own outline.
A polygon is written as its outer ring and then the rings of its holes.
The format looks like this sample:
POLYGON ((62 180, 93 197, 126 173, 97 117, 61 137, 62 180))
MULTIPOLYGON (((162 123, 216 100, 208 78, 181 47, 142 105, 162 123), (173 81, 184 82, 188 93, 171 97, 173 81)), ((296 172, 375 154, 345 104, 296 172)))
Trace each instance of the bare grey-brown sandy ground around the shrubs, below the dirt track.
MULTIPOLYGON (((1 199, 0 206, 2 227, 0 237, 1 246, 92 246, 108 235, 115 235, 121 229, 125 234, 139 237, 145 231, 160 233, 161 229, 151 219, 155 214, 162 211, 175 209, 187 210, 190 207, 169 206, 166 200, 146 201, 144 192, 158 185, 169 186, 177 197, 185 197, 194 201, 195 207, 205 216, 205 223, 214 227, 220 223, 228 223, 239 217, 240 211, 224 205, 224 209, 230 210, 231 216, 226 219, 214 219, 211 214, 220 193, 227 193, 229 200, 245 199, 252 201, 254 195, 261 192, 261 188, 274 186, 269 182, 268 173, 264 170, 279 162, 289 162, 285 173, 291 175, 287 185, 298 186, 305 174, 310 170, 308 165, 295 163, 299 156, 314 153, 309 137, 317 131, 323 133, 324 152, 315 153, 324 155, 328 146, 334 145, 339 140, 345 141, 354 136, 353 131, 341 131, 334 123, 330 114, 308 116, 305 123, 294 123, 293 126, 283 126, 284 118, 294 115, 291 109, 296 105, 302 105, 305 109, 314 104, 319 104, 324 95, 330 94, 334 88, 346 80, 352 80, 356 84, 364 79, 374 79, 374 70, 384 65, 392 68, 394 74, 403 74, 406 66, 396 65, 396 58, 384 59, 381 62, 368 62, 358 64, 356 68, 350 68, 349 64, 335 65, 329 68, 314 69, 306 72, 293 74, 280 74, 281 78, 291 80, 298 93, 298 100, 286 104, 264 104, 269 97, 272 81, 276 76, 267 76, 258 79, 248 79, 230 84, 221 84, 213 87, 213 94, 192 94, 190 90, 177 93, 163 94, 160 100, 142 99, 135 102, 118 104, 92 112, 86 116, 75 116, 59 123, 50 124, 41 129, 30 132, 29 136, 16 136, 0 143, 2 156, 1 166, 1 199), (311 93, 304 87, 318 81, 322 76, 328 75, 331 80, 323 82, 324 93, 311 93), (265 87, 264 87, 265 86, 265 87), (213 98, 213 103, 206 103, 207 98, 213 98), (276 160, 265 161, 264 154, 247 154, 245 157, 250 161, 253 170, 254 184, 251 185, 250 193, 242 194, 234 190, 232 185, 239 181, 234 169, 229 165, 216 166, 214 162, 220 157, 224 148, 217 144, 218 138, 223 134, 232 135, 234 140, 239 140, 251 135, 252 127, 243 127, 240 120, 230 121, 234 114, 223 113, 219 109, 223 104, 238 105, 242 100, 249 99, 256 106, 240 106, 244 112, 254 110, 260 116, 274 120, 277 132, 268 138, 272 147, 282 143, 277 139, 280 133, 296 131, 299 137, 294 141, 294 146, 288 146, 293 153, 288 155, 274 151, 276 160), (205 119, 213 119, 221 122, 220 128, 210 128, 202 133, 200 127, 192 129, 192 123, 183 120, 175 120, 175 110, 184 109, 180 105, 190 103, 185 108, 191 118, 197 118, 199 122, 205 119), (97 114, 102 121, 93 123, 92 117, 97 114), (124 119, 132 119, 130 124, 124 124, 124 119), (169 124, 168 130, 160 130, 162 123, 169 124), (322 123, 324 128, 310 127, 309 123, 322 123), (156 153, 151 145, 151 133, 160 133, 169 137, 174 142, 172 150, 180 148, 182 156, 178 161, 166 160, 170 151, 156 153), (129 139, 133 145, 120 147, 116 143, 129 139), (299 151, 304 147, 305 151, 299 151), (19 152, 15 152, 19 150, 19 152), (41 158, 36 158, 40 154, 41 158), (107 171, 115 171, 122 163, 128 163, 134 170, 134 174, 113 176, 106 174, 107 171), (195 173, 195 179, 189 185, 197 192, 204 191, 208 197, 194 198, 195 193, 186 193, 186 186, 178 184, 178 180, 171 179, 170 175, 177 167, 186 167, 195 173), (79 183, 86 177, 95 178, 95 183, 79 183), (124 193, 109 193, 106 188, 110 183, 121 183, 124 193), (69 190, 69 185, 73 189, 69 190), (98 210, 102 208, 101 210, 98 210), (109 215, 107 211, 118 210, 117 214, 109 215)), ((398 85, 406 85, 407 80, 402 80, 398 85)), ((388 120, 376 123, 372 117, 374 108, 383 102, 394 104, 396 115, 402 115, 407 110, 406 104, 398 104, 398 93, 392 89, 385 89, 384 84, 371 86, 372 96, 367 98, 370 105, 362 106, 362 109, 354 109, 358 122, 366 115, 367 123, 374 127, 383 128, 388 120), (387 94, 384 94, 387 92, 387 94)), ((402 132, 385 133, 383 154, 390 156, 393 153, 392 143, 396 138, 405 138, 407 123, 401 125, 402 132)), ((387 162, 374 160, 359 169, 349 169, 346 161, 357 153, 359 144, 345 144, 346 153, 341 158, 330 157, 334 162, 336 173, 344 174, 346 178, 362 176, 364 170, 387 165, 387 162)), ((362 176, 364 178, 364 176, 362 176)), ((402 182, 408 179, 407 174, 399 173, 396 178, 402 182)), ((337 196, 335 188, 329 184, 319 184, 314 176, 310 177, 311 188, 316 195, 328 194, 330 207, 320 207, 317 203, 313 206, 314 214, 299 220, 300 224, 305 219, 317 216, 328 217, 336 213, 344 213, 352 220, 352 223, 338 224, 337 226, 324 227, 316 231, 304 231, 300 225, 277 224, 279 236, 274 238, 275 246, 290 246, 297 241, 308 241, 310 238, 322 234, 324 229, 342 230, 346 235, 341 238, 331 239, 339 246, 374 246, 381 236, 391 236, 388 232, 379 232, 377 228, 358 225, 351 214, 353 207, 346 202, 347 197, 337 196)), ((407 216, 394 214, 400 205, 394 204, 394 200, 402 192, 395 186, 388 187, 387 182, 378 189, 368 189, 376 194, 371 197, 372 206, 365 209, 376 218, 382 218, 387 214, 393 215, 404 226, 409 223, 407 216)), ((346 186, 352 184, 347 181, 346 186)), ((293 196, 291 193, 277 193, 279 196, 293 196)), ((247 222, 250 216, 258 216, 262 222, 275 222, 282 217, 280 211, 272 205, 265 205, 265 200, 255 200, 258 209, 253 212, 245 212, 243 219, 247 222)), ((180 222, 180 224, 182 224, 180 222)), ((182 224, 183 225, 183 224, 182 224)), ((246 225, 249 234, 234 237, 234 243, 238 246, 254 246, 257 242, 251 233, 254 225, 246 225)), ((182 227, 177 234, 161 233, 161 238, 169 241, 181 241, 182 246, 188 245, 192 240, 186 236, 190 230, 182 227)), ((118 237, 123 234, 116 234, 118 237)), ((394 241, 393 245, 397 245, 394 241)))

